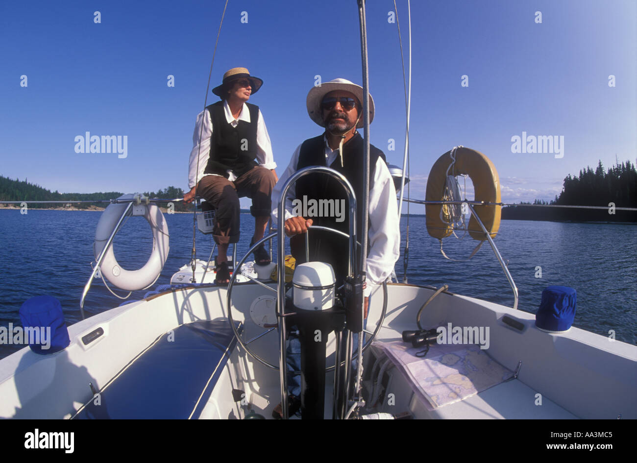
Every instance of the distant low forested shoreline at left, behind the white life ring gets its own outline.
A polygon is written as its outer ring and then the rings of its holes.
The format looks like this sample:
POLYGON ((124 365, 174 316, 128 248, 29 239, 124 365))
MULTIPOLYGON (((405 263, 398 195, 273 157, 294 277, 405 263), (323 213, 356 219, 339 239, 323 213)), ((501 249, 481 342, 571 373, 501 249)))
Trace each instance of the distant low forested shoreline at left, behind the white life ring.
MULTIPOLYGON (((108 203, 71 203, 71 201, 108 201, 122 196, 124 193, 117 191, 110 192, 96 192, 96 193, 59 193, 56 191, 47 190, 40 185, 34 185, 28 183, 27 180, 20 181, 18 179, 11 179, 0 175, 0 201, 69 201, 67 204, 47 204, 47 203, 35 203, 29 204, 29 208, 32 209, 72 209, 72 210, 101 210, 108 206, 108 203)), ((175 187, 168 187, 164 190, 157 190, 157 192, 143 192, 145 196, 150 198, 170 198, 176 199, 183 197, 183 190, 175 187)), ((191 210, 189 204, 174 203, 175 212, 187 212, 191 210)), ((7 204, 0 204, 0 206, 7 207, 7 204)), ((20 207, 20 204, 15 204, 13 207, 20 207)), ((166 204, 160 204, 162 208, 166 208, 166 204)))

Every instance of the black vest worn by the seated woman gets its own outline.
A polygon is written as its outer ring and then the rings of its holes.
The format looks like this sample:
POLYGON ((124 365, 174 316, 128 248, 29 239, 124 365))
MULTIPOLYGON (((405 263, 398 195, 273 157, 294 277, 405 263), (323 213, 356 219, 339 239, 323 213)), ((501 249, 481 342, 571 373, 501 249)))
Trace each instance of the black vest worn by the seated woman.
POLYGON ((254 159, 257 157, 259 106, 246 104, 250 111, 250 123, 240 120, 236 127, 225 119, 223 101, 206 107, 212 120, 212 136, 210 157, 204 173, 228 178, 227 171, 232 170, 239 177, 257 165, 254 159))

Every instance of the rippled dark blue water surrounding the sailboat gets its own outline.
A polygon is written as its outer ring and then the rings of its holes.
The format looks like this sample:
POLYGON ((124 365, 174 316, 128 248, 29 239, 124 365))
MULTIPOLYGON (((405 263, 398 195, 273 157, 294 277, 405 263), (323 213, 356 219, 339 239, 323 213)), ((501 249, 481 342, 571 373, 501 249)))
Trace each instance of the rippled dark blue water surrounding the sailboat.
MULTIPOLYGON (((80 297, 90 274, 92 243, 99 212, 0 210, 0 325, 20 324, 18 310, 26 299, 41 294, 57 297, 67 324, 80 320, 80 297)), ((189 262, 192 215, 164 215, 171 236, 170 253, 156 285, 169 283, 177 269, 189 262)), ((406 219, 401 221, 404 250, 406 219)), ((241 216, 243 256, 254 231, 254 219, 241 216)), ((455 259, 468 257, 477 241, 447 238, 445 252, 455 259)), ((608 336, 615 330, 621 341, 637 344, 637 226, 562 224, 555 222, 502 222, 496 244, 519 288, 521 310, 534 312, 543 288, 565 285, 577 290, 575 326, 608 336), (542 278, 535 278, 541 266, 542 278)), ((115 238, 115 257, 125 269, 145 264, 150 255, 150 227, 131 217, 115 238)), ((210 236, 197 231, 197 257, 210 254, 210 236)), ((402 280, 403 257, 396 264, 402 280)), ((511 306, 513 293, 490 246, 485 244, 468 262, 450 262, 440 254, 438 240, 426 231, 424 217, 410 218, 410 283, 511 306)), ((118 291, 122 294, 121 291, 118 291)), ((125 294, 125 293, 124 293, 125 294)), ((145 291, 132 294, 140 299, 145 291)), ((122 301, 95 280, 85 303, 87 315, 117 306, 122 301)), ((15 347, 0 345, 0 357, 15 347)))

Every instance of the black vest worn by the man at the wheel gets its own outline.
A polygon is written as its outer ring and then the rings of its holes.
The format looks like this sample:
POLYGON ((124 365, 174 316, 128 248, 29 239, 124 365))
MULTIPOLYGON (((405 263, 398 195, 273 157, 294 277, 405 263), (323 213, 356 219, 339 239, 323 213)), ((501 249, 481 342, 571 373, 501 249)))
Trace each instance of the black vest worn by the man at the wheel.
MULTIPOLYGON (((356 227, 357 227, 357 241, 361 241, 361 227, 362 227, 362 213, 363 213, 363 157, 364 157, 364 141, 360 134, 347 141, 343 145, 343 166, 341 167, 341 158, 337 156, 334 162, 331 164, 331 169, 343 174, 345 178, 352 184, 354 193, 356 195, 356 227)), ((376 146, 369 145, 369 189, 373 185, 374 173, 376 170, 376 161, 378 157, 381 157, 385 161, 385 155, 376 146)), ((297 170, 303 169, 309 166, 325 166, 325 140, 323 135, 315 138, 310 138, 303 142, 301 150, 299 152, 299 161, 297 163, 297 170)), ((325 174, 310 174, 303 178, 300 178, 296 182, 296 197, 303 200, 306 196, 308 201, 315 199, 320 201, 321 199, 334 199, 334 201, 345 202, 345 220, 343 222, 336 222, 336 217, 305 217, 311 218, 313 225, 321 225, 323 227, 330 227, 349 232, 349 204, 347 200, 347 193, 345 189, 341 187, 340 183, 336 182, 333 178, 325 174)), ((303 214, 301 214, 303 215, 303 214)), ((321 230, 310 230, 310 261, 320 260, 321 262, 327 262, 334 267, 334 273, 336 273, 336 281, 341 284, 343 278, 347 274, 347 256, 348 245, 347 238, 338 236, 333 232, 325 232, 321 230)), ((304 235, 297 235, 290 241, 292 249, 292 255, 295 259, 299 260, 299 263, 305 262, 305 237, 304 235)), ((359 250, 360 252, 360 250, 359 250)), ((356 261, 359 262, 360 255, 357 255, 356 261)))

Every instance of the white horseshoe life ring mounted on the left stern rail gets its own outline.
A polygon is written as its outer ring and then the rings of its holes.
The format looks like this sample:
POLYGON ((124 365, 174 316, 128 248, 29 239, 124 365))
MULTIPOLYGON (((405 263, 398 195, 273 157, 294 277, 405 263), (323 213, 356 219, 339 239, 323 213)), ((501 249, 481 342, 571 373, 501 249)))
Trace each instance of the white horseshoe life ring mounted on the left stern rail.
MULTIPOLYGON (((125 194, 117 199, 132 199, 133 197, 133 194, 125 194)), ((108 241, 108 238, 117 226, 117 222, 120 217, 122 217, 127 206, 127 203, 110 204, 99 218, 95 231, 95 242, 93 243, 96 260, 104 249, 106 241, 108 241)), ((100 271, 102 275, 106 277, 106 280, 126 291, 145 289, 155 283, 166 263, 169 251, 168 225, 166 224, 166 220, 164 220, 164 215, 161 210, 159 210, 155 204, 140 204, 139 206, 133 207, 143 208, 143 217, 148 220, 148 224, 150 224, 150 229, 153 233, 153 250, 148 258, 148 262, 146 262, 145 266, 137 270, 131 271, 123 269, 117 263, 117 259, 115 259, 113 243, 111 243, 106 250, 106 254, 100 266, 100 271)), ((135 215, 141 215, 141 213, 136 213, 135 215)))

